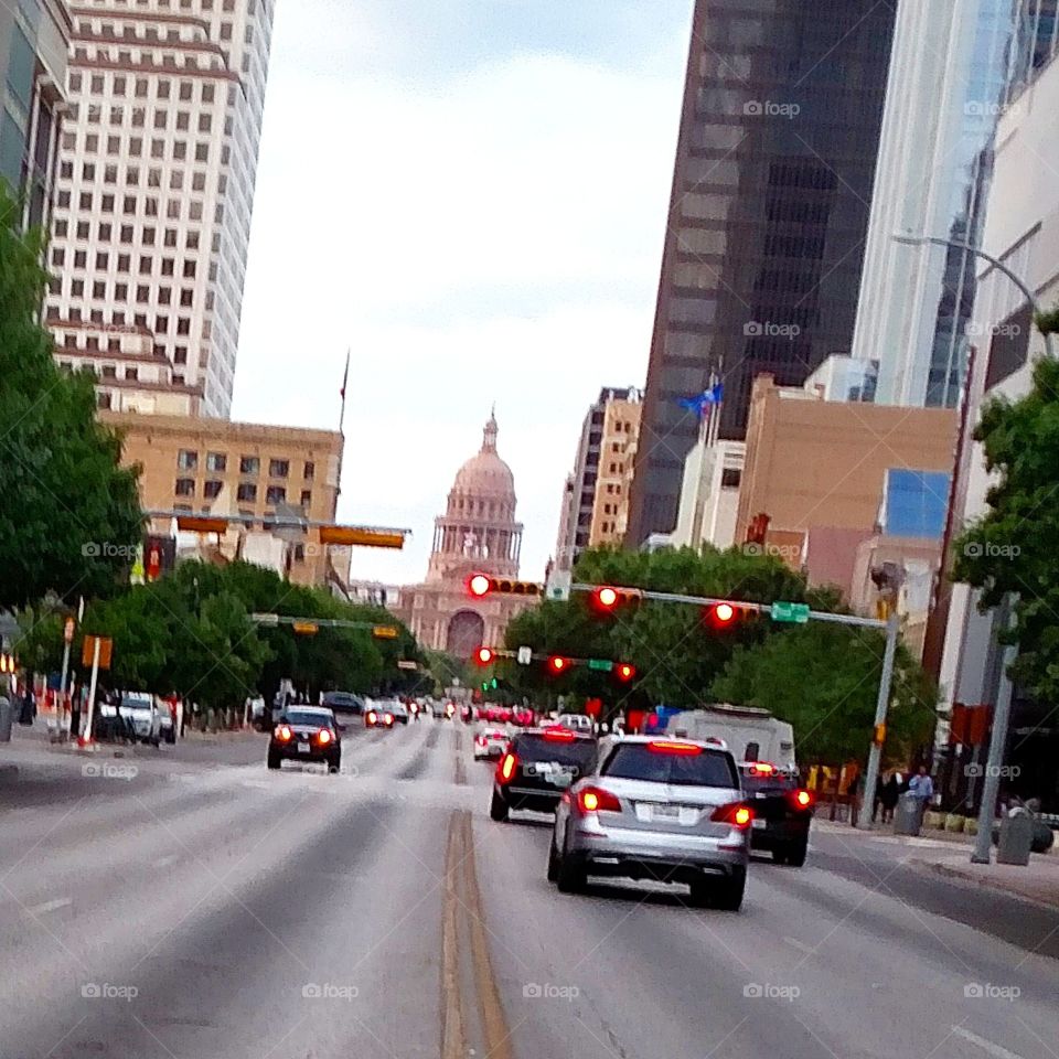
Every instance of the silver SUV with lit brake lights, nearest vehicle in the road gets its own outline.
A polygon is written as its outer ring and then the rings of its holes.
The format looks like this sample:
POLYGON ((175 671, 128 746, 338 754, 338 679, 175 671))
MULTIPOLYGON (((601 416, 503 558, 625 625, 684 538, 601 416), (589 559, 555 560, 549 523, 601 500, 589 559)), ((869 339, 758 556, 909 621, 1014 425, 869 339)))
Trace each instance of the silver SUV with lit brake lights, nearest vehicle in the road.
POLYGON ((589 875, 683 882, 693 905, 737 911, 752 819, 729 751, 692 739, 605 739, 559 802, 548 879, 567 894, 589 875))

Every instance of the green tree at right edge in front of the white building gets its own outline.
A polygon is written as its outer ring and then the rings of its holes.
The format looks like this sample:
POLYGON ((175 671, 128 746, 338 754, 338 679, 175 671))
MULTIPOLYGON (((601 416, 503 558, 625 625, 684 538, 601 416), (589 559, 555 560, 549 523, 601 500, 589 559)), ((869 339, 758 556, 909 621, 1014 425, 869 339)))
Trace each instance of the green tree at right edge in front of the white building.
MULTIPOLYGON (((1048 319, 1042 322, 1049 323, 1048 319)), ((1059 323, 1059 321, 1056 321, 1059 323)), ((1059 364, 1040 361, 1019 400, 985 405, 974 434, 994 475, 988 511, 955 545, 955 577, 982 589, 983 609, 1016 597, 1012 676, 1037 697, 1059 697, 1059 364)))

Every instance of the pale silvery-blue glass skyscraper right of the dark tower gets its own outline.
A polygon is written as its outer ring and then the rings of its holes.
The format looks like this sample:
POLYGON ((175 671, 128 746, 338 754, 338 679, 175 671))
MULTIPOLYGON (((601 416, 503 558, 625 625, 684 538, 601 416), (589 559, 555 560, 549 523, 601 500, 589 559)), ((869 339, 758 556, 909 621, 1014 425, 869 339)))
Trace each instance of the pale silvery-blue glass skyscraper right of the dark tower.
MULTIPOLYGON (((976 344, 969 328, 980 261, 967 250, 894 236, 978 245, 993 132, 1025 2, 898 6, 852 351, 878 361, 877 402, 959 402, 967 349, 976 344)), ((1037 32, 1036 22, 1028 31, 1037 32)))

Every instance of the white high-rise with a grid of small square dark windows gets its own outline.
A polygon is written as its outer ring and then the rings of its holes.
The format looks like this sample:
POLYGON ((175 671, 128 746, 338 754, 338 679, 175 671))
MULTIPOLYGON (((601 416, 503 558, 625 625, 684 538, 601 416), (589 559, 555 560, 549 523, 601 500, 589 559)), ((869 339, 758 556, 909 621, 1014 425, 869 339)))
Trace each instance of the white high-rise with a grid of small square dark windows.
POLYGON ((64 335, 83 323, 92 352, 100 328, 150 332, 213 416, 232 405, 275 9, 72 7, 47 315, 64 335))

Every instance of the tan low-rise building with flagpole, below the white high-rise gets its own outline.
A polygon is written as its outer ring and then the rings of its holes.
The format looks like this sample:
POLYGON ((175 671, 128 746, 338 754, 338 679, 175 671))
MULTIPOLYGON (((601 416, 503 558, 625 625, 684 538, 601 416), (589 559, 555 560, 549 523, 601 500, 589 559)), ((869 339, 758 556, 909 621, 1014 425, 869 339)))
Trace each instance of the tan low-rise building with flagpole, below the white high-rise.
MULTIPOLYGON (((334 521, 342 453, 338 431, 106 409, 99 418, 121 432, 122 462, 142 467, 145 510, 260 518, 252 528, 233 526, 216 549, 227 558, 275 566, 300 585, 349 579, 347 548, 321 547, 311 530, 302 542, 264 526, 282 504, 309 520, 334 521)), ((171 520, 154 520, 151 531, 164 535, 171 525, 171 520)))

